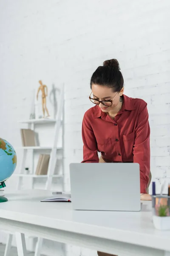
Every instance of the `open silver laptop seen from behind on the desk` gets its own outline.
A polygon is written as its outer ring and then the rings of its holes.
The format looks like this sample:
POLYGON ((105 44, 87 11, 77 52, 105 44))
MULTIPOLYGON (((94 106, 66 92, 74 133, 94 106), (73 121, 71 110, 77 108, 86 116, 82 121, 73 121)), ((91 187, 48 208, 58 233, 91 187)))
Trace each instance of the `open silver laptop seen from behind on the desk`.
POLYGON ((138 163, 71 163, 75 210, 140 211, 138 163))

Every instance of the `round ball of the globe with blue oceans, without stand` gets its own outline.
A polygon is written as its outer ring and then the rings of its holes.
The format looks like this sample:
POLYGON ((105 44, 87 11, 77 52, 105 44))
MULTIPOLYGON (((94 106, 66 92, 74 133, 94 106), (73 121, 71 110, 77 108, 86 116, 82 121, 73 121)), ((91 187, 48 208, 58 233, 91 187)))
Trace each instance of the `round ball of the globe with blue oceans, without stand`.
POLYGON ((7 180, 17 166, 17 154, 8 141, 0 138, 0 183, 7 180))

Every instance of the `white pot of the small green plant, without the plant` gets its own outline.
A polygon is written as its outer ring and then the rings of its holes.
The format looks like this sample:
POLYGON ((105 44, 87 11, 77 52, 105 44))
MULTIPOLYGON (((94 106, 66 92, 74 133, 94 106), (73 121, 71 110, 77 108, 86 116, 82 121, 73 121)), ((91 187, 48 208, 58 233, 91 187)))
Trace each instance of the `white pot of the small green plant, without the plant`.
POLYGON ((153 215, 153 225, 159 230, 170 230, 170 216, 159 217, 153 215))

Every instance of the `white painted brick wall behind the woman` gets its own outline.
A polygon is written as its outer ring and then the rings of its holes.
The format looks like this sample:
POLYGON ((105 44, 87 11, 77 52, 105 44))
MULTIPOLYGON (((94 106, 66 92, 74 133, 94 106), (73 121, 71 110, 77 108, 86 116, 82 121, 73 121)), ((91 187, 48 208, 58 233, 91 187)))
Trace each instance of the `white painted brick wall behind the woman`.
MULTIPOLYGON (((153 178, 170 176, 169 8, 169 0, 0 0, 0 137, 20 145, 17 121, 28 118, 37 81, 49 88, 64 82, 69 188, 69 163, 82 160, 91 74, 117 58, 125 93, 148 103, 153 178)), ((89 255, 71 248, 71 255, 89 255)))

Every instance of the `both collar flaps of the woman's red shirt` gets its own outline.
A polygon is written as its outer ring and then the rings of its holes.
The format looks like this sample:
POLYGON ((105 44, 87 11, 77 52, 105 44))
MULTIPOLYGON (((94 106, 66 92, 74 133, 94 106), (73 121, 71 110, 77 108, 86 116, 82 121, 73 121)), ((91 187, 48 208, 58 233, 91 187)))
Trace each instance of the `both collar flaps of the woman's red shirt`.
MULTIPOLYGON (((101 111, 101 109, 99 108, 99 106, 95 106, 95 111, 94 111, 94 118, 99 118, 100 116, 104 115, 105 113, 103 113, 101 111)), ((122 106, 122 112, 124 110, 127 111, 132 111, 135 110, 135 106, 133 104, 132 98, 126 96, 123 94, 123 106, 122 106)))

